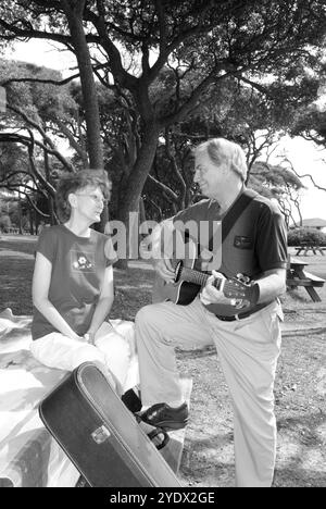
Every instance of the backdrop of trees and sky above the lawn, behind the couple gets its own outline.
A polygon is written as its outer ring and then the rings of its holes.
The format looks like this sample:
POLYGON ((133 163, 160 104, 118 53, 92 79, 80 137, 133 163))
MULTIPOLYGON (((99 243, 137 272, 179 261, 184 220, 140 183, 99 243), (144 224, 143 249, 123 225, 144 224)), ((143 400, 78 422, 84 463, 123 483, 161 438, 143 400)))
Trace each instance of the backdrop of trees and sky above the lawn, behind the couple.
POLYGON ((55 223, 60 174, 85 165, 112 179, 111 219, 160 221, 200 198, 191 147, 214 136, 289 225, 326 220, 323 2, 17 0, 0 16, 2 229, 55 223))

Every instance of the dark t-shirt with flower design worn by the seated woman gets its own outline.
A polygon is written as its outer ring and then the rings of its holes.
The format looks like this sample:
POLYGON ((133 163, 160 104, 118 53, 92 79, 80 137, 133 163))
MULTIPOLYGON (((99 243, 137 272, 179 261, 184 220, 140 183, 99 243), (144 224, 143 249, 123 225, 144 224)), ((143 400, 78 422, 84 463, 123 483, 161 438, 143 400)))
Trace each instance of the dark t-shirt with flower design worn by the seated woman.
MULTIPOLYGON (((90 326, 105 268, 117 260, 111 238, 93 229, 90 237, 78 237, 64 225, 51 226, 42 229, 37 251, 52 264, 50 302, 83 336, 90 326)), ((33 339, 52 332, 58 331, 34 308, 33 339)))

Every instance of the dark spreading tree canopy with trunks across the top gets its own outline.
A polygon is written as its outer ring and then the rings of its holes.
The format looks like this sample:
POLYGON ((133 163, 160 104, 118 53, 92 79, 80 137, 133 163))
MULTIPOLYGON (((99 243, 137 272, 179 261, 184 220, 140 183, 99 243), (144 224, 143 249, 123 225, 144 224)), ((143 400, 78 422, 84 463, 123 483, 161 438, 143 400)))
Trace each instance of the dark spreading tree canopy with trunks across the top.
MULTIPOLYGON (((277 97, 283 117, 293 91, 296 101, 313 95, 308 78, 321 67, 325 32, 324 0, 4 0, 0 5, 2 44, 47 39, 76 54, 90 162, 101 164, 103 139, 95 76, 123 108, 129 128, 128 144, 122 135, 117 144, 123 221, 138 210, 160 136, 189 120, 212 88, 231 78, 277 97)), ((215 101, 222 107, 223 96, 216 92, 215 101)))

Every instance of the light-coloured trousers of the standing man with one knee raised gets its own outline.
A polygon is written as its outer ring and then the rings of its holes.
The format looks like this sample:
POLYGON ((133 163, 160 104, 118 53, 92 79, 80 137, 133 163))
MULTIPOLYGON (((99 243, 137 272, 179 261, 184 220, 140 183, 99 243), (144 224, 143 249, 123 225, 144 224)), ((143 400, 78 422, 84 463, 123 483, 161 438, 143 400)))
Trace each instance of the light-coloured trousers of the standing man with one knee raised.
MULTIPOLYGON (((274 380, 283 312, 273 302, 247 319, 223 322, 196 299, 162 302, 136 316, 136 343, 145 406, 181 401, 174 347, 214 343, 234 406, 236 485, 272 485, 276 455, 274 380)), ((218 387, 216 387, 218 392, 218 387)))

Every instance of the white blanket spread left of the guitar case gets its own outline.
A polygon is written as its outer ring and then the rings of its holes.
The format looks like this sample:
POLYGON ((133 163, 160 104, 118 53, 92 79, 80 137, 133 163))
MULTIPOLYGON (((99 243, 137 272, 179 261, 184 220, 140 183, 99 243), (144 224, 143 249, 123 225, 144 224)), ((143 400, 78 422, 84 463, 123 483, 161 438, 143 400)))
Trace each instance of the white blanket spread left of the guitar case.
POLYGON ((79 474, 37 410, 65 372, 33 358, 30 322, 10 309, 0 313, 0 487, 74 486, 79 474))

